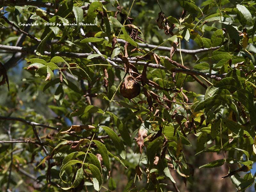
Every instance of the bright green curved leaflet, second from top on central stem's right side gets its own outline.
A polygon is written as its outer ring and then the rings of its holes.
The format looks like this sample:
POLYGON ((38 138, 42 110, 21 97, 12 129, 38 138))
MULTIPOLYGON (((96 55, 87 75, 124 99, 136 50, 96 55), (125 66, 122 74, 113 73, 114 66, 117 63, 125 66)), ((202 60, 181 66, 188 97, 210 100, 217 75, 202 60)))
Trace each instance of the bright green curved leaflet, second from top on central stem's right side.
POLYGON ((104 129, 104 131, 106 131, 109 135, 109 137, 111 138, 111 140, 114 143, 114 146, 116 147, 116 149, 118 150, 120 156, 125 159, 126 156, 126 151, 125 151, 125 147, 124 144, 122 142, 122 140, 117 136, 117 134, 110 129, 107 126, 100 126, 102 129, 104 129))

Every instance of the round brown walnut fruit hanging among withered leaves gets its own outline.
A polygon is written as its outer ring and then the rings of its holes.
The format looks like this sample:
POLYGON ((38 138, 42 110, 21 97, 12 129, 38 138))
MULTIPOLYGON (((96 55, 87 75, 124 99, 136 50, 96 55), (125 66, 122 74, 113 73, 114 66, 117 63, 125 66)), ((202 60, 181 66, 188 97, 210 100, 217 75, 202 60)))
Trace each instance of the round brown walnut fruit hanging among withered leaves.
POLYGON ((132 76, 126 76, 124 83, 120 87, 120 93, 123 97, 131 100, 140 94, 140 84, 137 83, 132 76))

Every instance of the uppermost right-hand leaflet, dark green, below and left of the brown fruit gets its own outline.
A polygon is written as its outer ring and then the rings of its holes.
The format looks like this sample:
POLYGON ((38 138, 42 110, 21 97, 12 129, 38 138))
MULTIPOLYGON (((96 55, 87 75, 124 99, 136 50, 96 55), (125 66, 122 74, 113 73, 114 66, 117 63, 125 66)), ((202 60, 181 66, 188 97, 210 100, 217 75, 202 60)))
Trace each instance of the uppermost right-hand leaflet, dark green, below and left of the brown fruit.
POLYGON ((113 114, 109 111, 107 111, 107 113, 114 119, 114 123, 115 123, 119 133, 121 134, 121 137, 123 138, 124 142, 126 143, 126 145, 132 146, 130 133, 129 133, 127 127, 124 126, 122 121, 115 114, 113 114))

